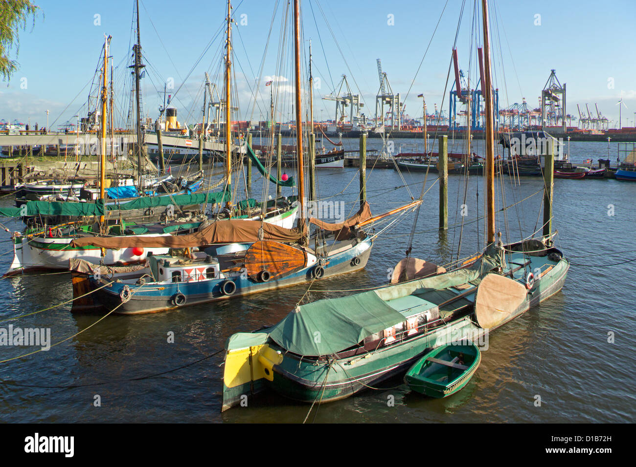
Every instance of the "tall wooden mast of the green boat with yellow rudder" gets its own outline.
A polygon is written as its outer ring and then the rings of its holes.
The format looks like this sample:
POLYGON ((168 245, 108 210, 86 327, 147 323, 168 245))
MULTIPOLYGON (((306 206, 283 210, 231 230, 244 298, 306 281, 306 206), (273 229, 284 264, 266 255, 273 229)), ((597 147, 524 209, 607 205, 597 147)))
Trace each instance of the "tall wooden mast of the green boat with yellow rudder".
POLYGON ((492 104, 492 82, 490 79, 490 34, 488 32, 488 0, 481 0, 483 10, 483 58, 484 58, 484 95, 486 112, 486 243, 495 241, 495 130, 492 104))

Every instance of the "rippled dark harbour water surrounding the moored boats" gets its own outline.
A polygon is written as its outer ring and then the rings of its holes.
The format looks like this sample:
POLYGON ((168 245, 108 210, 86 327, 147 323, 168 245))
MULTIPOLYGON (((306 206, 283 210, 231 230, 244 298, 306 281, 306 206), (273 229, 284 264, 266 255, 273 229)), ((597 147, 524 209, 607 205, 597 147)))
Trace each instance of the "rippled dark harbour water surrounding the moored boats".
MULTIPOLYGON (((258 139, 257 139, 258 141, 258 139)), ((397 140, 411 144, 413 140, 397 140)), ((381 145, 369 139, 368 147, 381 145)), ((420 151, 421 151, 420 143, 420 151)), ((460 149, 460 144, 450 150, 460 149)), ((479 144, 477 151, 480 152, 479 144)), ((345 140, 356 149, 357 140, 345 140)), ((397 147, 396 147, 397 149, 397 147)), ((404 151, 410 150, 404 146, 404 151)), ((612 143, 611 156, 616 158, 612 143)), ((570 143, 570 158, 605 158, 607 143, 570 143)), ((258 174, 257 174, 258 175, 258 174)), ((410 200, 402 187, 410 184, 417 198, 422 173, 404 173, 404 181, 391 169, 368 172, 368 199, 374 213, 410 200)), ((435 175, 429 175, 426 188, 435 175)), ((239 186, 242 182, 239 182, 239 186)), ((321 197, 345 201, 346 214, 356 208, 357 172, 352 168, 322 169, 318 173, 321 197)), ((262 179, 251 195, 262 196, 262 179)), ((497 187, 499 206, 513 205, 543 188, 537 177, 522 178, 518 186, 504 177, 497 187), (503 194, 502 194, 503 192, 503 194)), ((272 191, 270 187, 270 193, 272 191)), ((457 257, 461 222, 466 205, 462 248, 465 257, 483 247, 483 179, 449 177, 448 233, 440 235, 438 186, 425 195, 413 240, 413 255, 445 264, 457 257), (466 201, 464 201, 466 194, 466 201), (478 201, 479 200, 479 201, 478 201), (457 213, 458 215, 455 215, 457 213)), ((287 194, 287 193, 284 193, 287 194)), ((239 194, 239 196, 244 193, 239 194)), ((636 400, 633 335, 636 332, 634 278, 636 261, 636 183, 616 180, 555 180, 557 247, 572 262, 562 291, 531 309, 492 335, 481 366, 466 388, 445 399, 411 393, 401 377, 387 381, 378 391, 322 405, 309 420, 317 422, 621 422, 634 421, 636 400), (611 205, 611 206, 609 206, 611 205), (608 215, 613 207, 614 215, 608 215), (631 252, 629 252, 631 250, 631 252), (612 254, 612 252, 625 252, 612 254), (615 342, 608 342, 608 333, 615 342), (534 404, 541 396, 541 407, 534 404), (394 406, 388 403, 394 400, 394 406)), ((10 198, 0 200, 11 205, 10 198)), ((504 241, 529 236, 541 226, 541 195, 498 212, 497 226, 504 241)), ((541 214, 543 215, 543 214, 541 214)), ((18 222, 6 222, 18 230, 18 222)), ((334 297, 352 290, 384 284, 387 269, 404 256, 413 215, 380 236, 364 271, 315 284, 311 300, 334 297)), ((0 269, 11 262, 8 233, 0 240, 0 269)), ((70 304, 32 313, 72 297, 68 274, 24 275, 0 281, 0 327, 50 327, 52 341, 65 342, 10 362, 0 363, 0 417, 4 422, 301 422, 308 405, 277 395, 254 398, 249 407, 221 414, 223 352, 188 367, 151 376, 195 362, 223 348, 234 332, 273 324, 285 316, 306 291, 305 286, 236 298, 181 311, 140 316, 72 315, 70 304), (92 327, 90 327, 93 325, 92 327), (89 328, 90 327, 90 328, 89 328), (174 332, 174 344, 167 334, 174 332), (10 384, 11 383, 11 384, 10 384), (99 383, 99 384, 93 384, 99 383), (18 386, 18 384, 22 386, 18 386), (76 386, 34 388, 30 386, 76 386), (95 395, 101 407, 94 407, 95 395)), ((36 348, 0 346, 0 360, 36 348)))

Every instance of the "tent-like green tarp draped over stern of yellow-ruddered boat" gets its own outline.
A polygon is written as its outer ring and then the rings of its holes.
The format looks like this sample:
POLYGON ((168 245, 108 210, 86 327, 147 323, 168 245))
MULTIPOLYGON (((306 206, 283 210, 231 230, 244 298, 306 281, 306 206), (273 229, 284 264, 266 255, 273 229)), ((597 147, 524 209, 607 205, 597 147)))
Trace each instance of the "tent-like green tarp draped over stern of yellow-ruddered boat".
POLYGON ((270 338, 303 356, 331 355, 404 321, 404 316, 370 290, 301 305, 270 328, 270 338))

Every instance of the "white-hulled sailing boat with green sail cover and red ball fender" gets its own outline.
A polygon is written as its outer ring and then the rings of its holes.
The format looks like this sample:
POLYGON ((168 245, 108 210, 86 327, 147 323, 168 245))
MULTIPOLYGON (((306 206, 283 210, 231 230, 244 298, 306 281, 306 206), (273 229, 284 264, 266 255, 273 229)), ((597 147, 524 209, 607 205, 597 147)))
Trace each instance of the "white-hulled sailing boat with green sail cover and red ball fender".
MULTIPOLYGON (((93 238, 106 234, 139 234, 163 236, 177 230, 189 232, 197 228, 204 219, 198 218, 200 205, 219 203, 227 198, 226 193, 193 193, 198 184, 186 183, 179 191, 155 193, 156 196, 121 198, 106 201, 106 120, 107 120, 107 71, 108 49, 111 37, 104 38, 104 61, 102 65, 101 122, 100 122, 100 180, 99 198, 94 202, 29 201, 21 208, 4 208, 3 215, 35 219, 42 224, 27 227, 23 234, 13 234, 13 261, 5 275, 22 273, 30 269, 67 269, 74 258, 87 261, 103 261, 107 265, 145 261, 148 254, 167 253, 167 248, 139 250, 127 248, 102 252, 97 247, 71 248, 71 242, 81 236, 93 238), (190 206, 186 208, 184 206, 190 206), (176 215, 189 215, 186 222, 174 222, 176 215), (123 218, 127 219, 126 223, 123 218), (88 224, 85 219, 92 219, 88 224), (99 220, 99 222, 96 222, 99 220), (156 222, 162 220, 161 226, 156 222), (92 224, 95 222, 95 224, 92 224), (153 224, 148 224, 153 222, 153 224), (137 229, 137 231, 135 231, 137 229)), ((139 51, 135 48, 135 51, 139 51)), ((139 58, 135 56, 139 62, 139 58)), ((138 135, 139 137, 139 135, 138 135)), ((141 156, 140 156, 141 157, 141 156)), ((139 179, 144 180, 141 172, 139 179)), ((142 189, 145 189, 143 182, 142 189)), ((118 187, 120 188, 120 187, 118 187)), ((155 190, 157 191, 157 190, 155 190)))

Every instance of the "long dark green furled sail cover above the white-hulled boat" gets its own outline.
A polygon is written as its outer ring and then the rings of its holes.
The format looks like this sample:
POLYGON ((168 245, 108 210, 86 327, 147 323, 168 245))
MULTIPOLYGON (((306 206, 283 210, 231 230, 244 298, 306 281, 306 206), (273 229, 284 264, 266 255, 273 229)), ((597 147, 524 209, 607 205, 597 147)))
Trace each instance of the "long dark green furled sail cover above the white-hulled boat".
MULTIPOLYGON (((172 196, 144 196, 126 203, 107 205, 109 211, 148 209, 157 206, 190 206, 203 203, 223 203, 232 197, 228 187, 225 191, 209 191, 207 193, 174 194, 172 196)), ((0 216, 22 217, 24 215, 105 215, 100 201, 95 203, 78 203, 74 201, 27 201, 24 208, 0 208, 0 216)))

